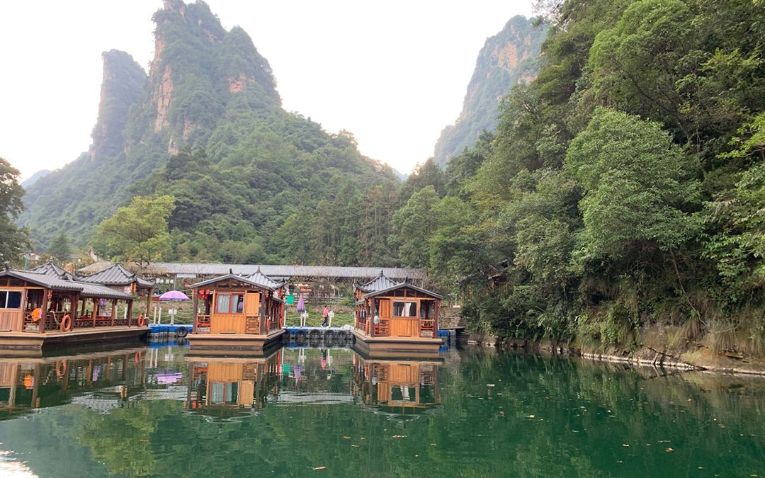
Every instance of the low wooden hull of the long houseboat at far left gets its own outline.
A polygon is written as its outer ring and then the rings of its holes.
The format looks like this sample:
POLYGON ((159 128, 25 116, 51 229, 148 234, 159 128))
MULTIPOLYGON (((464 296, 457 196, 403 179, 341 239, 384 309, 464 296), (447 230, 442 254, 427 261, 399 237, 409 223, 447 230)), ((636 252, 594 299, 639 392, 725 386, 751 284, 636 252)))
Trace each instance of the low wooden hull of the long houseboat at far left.
POLYGON ((138 340, 148 333, 148 327, 88 327, 45 333, 0 332, 0 356, 41 356, 43 349, 108 344, 138 340))

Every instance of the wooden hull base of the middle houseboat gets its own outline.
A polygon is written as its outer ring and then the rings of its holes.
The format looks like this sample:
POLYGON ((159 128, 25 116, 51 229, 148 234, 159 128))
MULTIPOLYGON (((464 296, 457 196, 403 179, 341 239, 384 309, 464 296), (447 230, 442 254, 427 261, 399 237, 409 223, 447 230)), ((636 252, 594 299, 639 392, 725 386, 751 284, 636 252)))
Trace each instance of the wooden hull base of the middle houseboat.
POLYGON ((250 333, 192 333, 186 337, 194 355, 262 356, 269 346, 278 343, 284 329, 260 335, 250 333), (264 351, 265 350, 265 351, 264 351))

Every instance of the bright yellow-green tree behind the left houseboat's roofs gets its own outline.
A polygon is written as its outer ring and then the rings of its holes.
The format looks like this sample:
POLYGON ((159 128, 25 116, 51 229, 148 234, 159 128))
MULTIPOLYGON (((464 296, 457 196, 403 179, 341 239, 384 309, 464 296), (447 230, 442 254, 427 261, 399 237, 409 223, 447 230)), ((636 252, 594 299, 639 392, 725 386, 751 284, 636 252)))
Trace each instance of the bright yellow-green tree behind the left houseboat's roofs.
POLYGON ((136 196, 101 221, 93 245, 116 259, 141 264, 158 261, 171 247, 168 218, 174 207, 171 196, 136 196))

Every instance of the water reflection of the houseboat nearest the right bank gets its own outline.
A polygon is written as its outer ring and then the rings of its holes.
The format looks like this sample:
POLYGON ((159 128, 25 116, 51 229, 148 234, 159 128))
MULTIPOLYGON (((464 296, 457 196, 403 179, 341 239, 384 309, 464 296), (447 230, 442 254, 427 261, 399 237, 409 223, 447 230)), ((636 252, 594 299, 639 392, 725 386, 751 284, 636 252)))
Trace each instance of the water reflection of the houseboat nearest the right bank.
POLYGON ((436 360, 373 360, 353 356, 353 395, 382 413, 421 414, 441 403, 438 364, 436 360))

